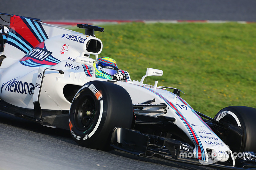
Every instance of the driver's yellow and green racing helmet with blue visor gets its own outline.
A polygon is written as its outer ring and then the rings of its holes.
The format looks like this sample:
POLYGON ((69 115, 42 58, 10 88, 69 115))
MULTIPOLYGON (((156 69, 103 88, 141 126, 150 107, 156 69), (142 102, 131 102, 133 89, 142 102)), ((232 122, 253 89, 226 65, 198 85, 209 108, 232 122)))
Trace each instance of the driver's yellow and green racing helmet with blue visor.
POLYGON ((97 58, 93 63, 93 67, 97 78, 112 79, 113 75, 118 72, 116 61, 109 57, 97 58))

